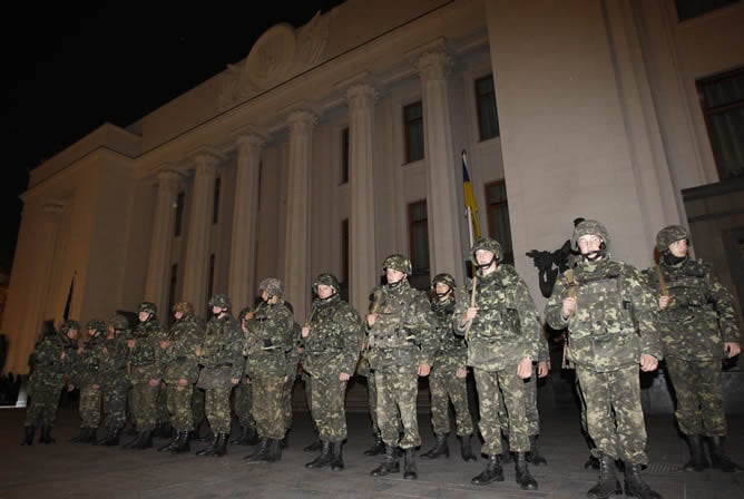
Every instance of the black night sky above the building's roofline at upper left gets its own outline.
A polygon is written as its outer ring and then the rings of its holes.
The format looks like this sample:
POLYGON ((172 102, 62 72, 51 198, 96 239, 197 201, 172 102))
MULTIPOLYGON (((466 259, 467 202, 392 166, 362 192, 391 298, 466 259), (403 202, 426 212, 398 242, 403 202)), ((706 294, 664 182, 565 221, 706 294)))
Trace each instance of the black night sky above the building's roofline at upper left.
POLYGON ((0 270, 28 172, 104 123, 126 127, 248 55, 277 22, 342 0, 22 2, 3 7, 0 270), (197 7, 198 6, 198 7, 197 7))

